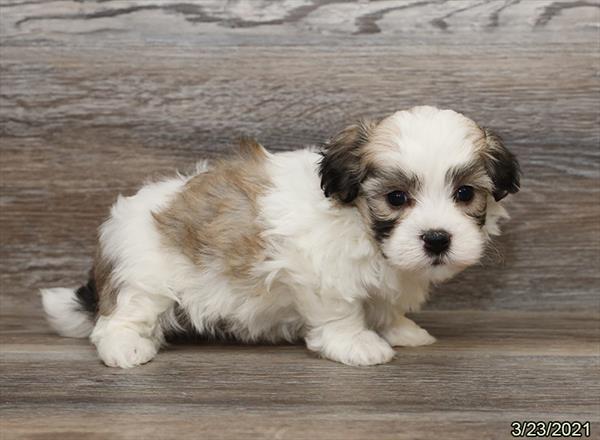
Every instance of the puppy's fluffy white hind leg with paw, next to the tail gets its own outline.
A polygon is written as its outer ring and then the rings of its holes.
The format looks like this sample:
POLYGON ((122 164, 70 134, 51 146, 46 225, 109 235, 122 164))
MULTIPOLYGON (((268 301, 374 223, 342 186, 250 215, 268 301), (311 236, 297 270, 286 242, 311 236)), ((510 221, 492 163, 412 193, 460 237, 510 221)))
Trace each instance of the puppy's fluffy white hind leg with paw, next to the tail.
POLYGON ((121 288, 114 311, 98 319, 90 336, 102 361, 121 368, 150 361, 164 341, 158 317, 173 302, 130 286, 121 288))

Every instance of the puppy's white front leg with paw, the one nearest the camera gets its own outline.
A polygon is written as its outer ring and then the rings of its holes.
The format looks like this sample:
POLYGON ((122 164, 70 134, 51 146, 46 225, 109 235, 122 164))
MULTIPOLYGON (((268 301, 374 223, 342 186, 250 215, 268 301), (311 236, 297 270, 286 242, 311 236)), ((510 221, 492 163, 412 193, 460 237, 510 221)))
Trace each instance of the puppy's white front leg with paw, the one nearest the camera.
POLYGON ((310 350, 354 366, 383 364, 394 357, 394 349, 367 329, 361 301, 321 299, 304 306, 310 328, 305 340, 310 350))

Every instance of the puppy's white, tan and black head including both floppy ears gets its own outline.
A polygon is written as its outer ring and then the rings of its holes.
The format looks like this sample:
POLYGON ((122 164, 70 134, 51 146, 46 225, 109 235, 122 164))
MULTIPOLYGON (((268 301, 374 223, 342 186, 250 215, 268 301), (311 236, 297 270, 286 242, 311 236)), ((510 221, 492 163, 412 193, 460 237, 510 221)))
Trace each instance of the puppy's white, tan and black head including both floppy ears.
POLYGON ((327 197, 355 205, 400 269, 441 281, 479 261, 519 190, 519 164, 500 137, 452 110, 415 107, 359 122, 329 140, 327 197))

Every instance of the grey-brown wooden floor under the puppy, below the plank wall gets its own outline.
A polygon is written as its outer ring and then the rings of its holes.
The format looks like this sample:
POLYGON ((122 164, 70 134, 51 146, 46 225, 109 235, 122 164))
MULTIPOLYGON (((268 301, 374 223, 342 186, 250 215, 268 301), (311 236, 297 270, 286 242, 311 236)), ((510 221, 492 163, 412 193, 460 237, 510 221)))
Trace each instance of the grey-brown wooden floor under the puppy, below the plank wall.
POLYGON ((85 341, 5 317, 0 428, 44 439, 494 439, 522 419, 600 428, 596 317, 438 311, 417 320, 439 342, 373 368, 296 345, 200 341, 116 370, 85 341))

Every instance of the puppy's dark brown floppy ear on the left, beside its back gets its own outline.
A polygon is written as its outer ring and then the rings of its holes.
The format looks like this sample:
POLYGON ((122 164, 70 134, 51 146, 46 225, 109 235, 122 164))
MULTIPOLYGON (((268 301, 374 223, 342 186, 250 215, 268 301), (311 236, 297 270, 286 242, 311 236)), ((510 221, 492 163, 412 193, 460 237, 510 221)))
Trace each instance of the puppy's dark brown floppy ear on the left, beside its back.
POLYGON ((375 126, 374 122, 359 121, 323 144, 319 174, 326 197, 343 203, 351 203, 356 198, 366 174, 361 163, 363 147, 375 126))

